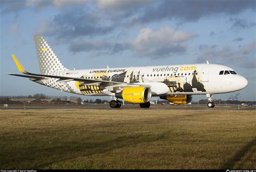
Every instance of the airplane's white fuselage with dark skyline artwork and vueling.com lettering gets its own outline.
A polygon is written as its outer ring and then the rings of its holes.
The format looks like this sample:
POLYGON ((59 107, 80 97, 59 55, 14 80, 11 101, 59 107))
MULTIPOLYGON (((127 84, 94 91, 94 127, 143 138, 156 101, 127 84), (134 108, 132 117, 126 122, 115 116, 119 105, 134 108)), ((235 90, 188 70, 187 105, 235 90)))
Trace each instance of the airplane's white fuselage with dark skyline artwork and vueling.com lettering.
MULTIPOLYGON (((150 67, 122 67, 86 70, 65 70, 50 73, 50 75, 86 78, 92 80, 116 81, 122 83, 151 85, 154 94, 159 95, 197 95, 221 94, 243 89, 247 80, 235 73, 233 69, 219 64, 184 64, 150 67), (220 71, 229 71, 221 74, 220 71), (156 83, 159 83, 156 85, 156 83), (161 85, 164 85, 161 87, 161 85), (160 87, 158 87, 160 85, 160 87), (166 87, 167 85, 167 87, 166 87), (161 88, 164 89, 161 90, 161 88), (167 91, 166 91, 167 88, 167 91)), ((57 82, 56 78, 35 81, 51 88, 89 96, 109 96, 97 84, 86 85, 78 81, 57 82)), ((108 86, 108 90, 115 92, 118 86, 108 86)))

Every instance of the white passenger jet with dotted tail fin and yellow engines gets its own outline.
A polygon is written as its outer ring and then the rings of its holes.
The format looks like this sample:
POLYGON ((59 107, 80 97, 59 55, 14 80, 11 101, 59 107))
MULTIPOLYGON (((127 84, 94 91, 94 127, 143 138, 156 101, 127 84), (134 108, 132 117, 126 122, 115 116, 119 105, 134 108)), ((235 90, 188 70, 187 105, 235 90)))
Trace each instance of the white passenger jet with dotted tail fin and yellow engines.
POLYGON ((193 95, 206 95, 207 106, 214 107, 214 94, 238 91, 248 84, 246 78, 233 69, 208 61, 206 64, 70 70, 63 66, 42 36, 35 36, 35 45, 41 74, 26 71, 12 54, 18 70, 24 75, 8 75, 26 77, 73 94, 111 96, 114 97, 110 101, 112 108, 121 107, 119 99, 147 108, 152 97, 174 104, 188 104, 193 95))

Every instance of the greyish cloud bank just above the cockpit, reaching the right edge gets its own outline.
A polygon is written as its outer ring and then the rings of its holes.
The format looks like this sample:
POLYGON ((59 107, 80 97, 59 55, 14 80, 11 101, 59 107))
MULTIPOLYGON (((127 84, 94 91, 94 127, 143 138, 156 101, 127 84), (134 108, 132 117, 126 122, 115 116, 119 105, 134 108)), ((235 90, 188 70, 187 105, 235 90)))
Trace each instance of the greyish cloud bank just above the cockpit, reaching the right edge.
POLYGON ((234 50, 229 46, 219 48, 218 46, 199 47, 197 62, 206 60, 219 64, 235 64, 244 68, 255 68, 256 42, 251 42, 234 50))

